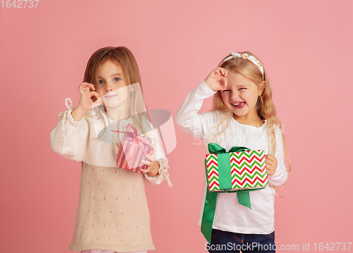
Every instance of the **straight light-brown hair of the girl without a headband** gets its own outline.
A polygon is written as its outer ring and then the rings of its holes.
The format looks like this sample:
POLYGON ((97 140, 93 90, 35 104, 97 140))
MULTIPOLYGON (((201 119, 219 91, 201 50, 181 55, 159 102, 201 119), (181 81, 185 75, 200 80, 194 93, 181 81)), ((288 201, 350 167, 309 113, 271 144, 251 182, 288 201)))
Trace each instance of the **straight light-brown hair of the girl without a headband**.
MULTIPOLYGON (((139 89, 129 89, 128 92, 128 106, 126 115, 130 116, 133 125, 138 129, 141 134, 145 134, 149 130, 153 129, 152 124, 150 124, 150 116, 148 113, 148 108, 145 104, 145 99, 143 97, 142 83, 140 78, 140 71, 138 69, 138 64, 135 57, 131 51, 126 47, 104 47, 98 49, 95 53, 90 56, 88 60, 85 75, 83 77, 83 82, 92 83, 97 90, 98 85, 98 70, 100 66, 106 61, 112 61, 116 66, 120 66, 124 77, 127 79, 129 87, 130 85, 139 85, 139 89), (145 120, 144 120, 145 118, 145 120), (145 129, 143 122, 149 124, 148 130, 145 129)), ((96 100, 95 97, 92 97, 93 101, 96 100)), ((91 113, 95 113, 98 118, 102 118, 103 113, 107 113, 106 109, 102 109, 102 106, 97 106, 92 110, 91 113)), ((87 115, 92 117, 91 115, 87 115)), ((106 114, 107 116, 107 114, 106 114)), ((104 133, 103 133, 104 134, 104 133)))

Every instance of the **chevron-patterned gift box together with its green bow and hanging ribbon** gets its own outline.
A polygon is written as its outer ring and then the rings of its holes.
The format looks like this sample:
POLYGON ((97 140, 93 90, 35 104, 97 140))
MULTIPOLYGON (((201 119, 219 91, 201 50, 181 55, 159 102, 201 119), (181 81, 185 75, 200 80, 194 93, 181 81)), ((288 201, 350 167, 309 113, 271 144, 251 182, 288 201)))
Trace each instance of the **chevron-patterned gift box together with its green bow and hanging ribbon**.
POLYGON ((201 223, 201 232, 211 242, 211 232, 217 192, 237 192, 239 204, 251 209, 249 192, 268 185, 263 150, 232 147, 229 152, 215 143, 208 144, 210 154, 205 158, 208 189, 201 223))

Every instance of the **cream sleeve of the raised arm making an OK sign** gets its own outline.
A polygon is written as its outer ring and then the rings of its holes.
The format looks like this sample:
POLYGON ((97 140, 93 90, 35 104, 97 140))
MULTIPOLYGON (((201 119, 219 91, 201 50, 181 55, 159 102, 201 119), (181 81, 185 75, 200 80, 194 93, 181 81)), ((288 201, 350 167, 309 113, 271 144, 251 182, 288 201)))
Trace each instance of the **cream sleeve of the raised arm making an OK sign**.
POLYGON ((66 159, 83 161, 88 149, 89 124, 85 117, 75 121, 72 110, 63 113, 63 118, 50 132, 50 146, 53 151, 66 159))

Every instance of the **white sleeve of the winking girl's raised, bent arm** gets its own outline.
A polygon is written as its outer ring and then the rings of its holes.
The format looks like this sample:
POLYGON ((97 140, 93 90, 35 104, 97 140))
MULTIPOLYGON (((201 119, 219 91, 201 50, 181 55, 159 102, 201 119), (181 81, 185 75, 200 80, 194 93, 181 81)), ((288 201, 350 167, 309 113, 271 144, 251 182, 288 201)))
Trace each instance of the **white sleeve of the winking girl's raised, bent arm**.
POLYGON ((205 81, 190 92, 177 112, 176 122, 181 129, 198 139, 203 139, 207 119, 205 113, 198 113, 198 110, 201 109, 203 100, 212 97, 215 93, 217 92, 211 90, 205 81))

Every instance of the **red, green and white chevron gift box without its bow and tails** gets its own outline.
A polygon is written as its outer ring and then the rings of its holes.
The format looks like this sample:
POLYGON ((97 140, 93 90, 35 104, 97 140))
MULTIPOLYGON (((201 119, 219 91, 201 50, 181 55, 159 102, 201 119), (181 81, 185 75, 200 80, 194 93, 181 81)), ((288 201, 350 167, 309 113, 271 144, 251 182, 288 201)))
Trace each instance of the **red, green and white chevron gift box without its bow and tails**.
POLYGON ((268 185, 264 150, 207 154, 205 166, 210 192, 261 189, 268 185), (227 181, 227 185, 222 185, 227 181))

